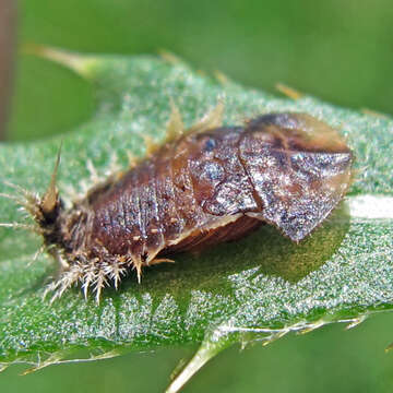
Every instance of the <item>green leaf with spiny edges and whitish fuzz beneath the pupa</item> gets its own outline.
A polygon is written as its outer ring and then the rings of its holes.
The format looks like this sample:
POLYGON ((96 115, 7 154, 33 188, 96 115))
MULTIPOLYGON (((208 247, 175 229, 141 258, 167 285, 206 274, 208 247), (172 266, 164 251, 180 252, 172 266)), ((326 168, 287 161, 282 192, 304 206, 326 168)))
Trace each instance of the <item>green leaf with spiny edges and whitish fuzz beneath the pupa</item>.
MULTIPOLYGON (((100 175, 114 156, 126 167, 128 153, 143 156, 144 135, 160 141, 170 112, 169 97, 191 124, 225 95, 225 123, 271 111, 303 111, 346 135, 356 154, 357 177, 346 201, 300 245, 270 226, 199 257, 181 254, 176 264, 146 269, 142 284, 133 273, 118 291, 105 290, 99 306, 80 288, 50 305, 43 293, 58 266, 40 254, 37 236, 0 230, 0 361, 33 369, 73 358, 91 358, 168 345, 202 343, 200 352, 168 391, 177 391, 209 358, 234 343, 266 344, 289 332, 326 323, 350 326, 392 308, 393 300, 393 120, 337 108, 312 97, 278 99, 217 80, 180 61, 154 57, 79 57, 45 50, 90 81, 96 97, 93 118, 62 138, 59 187, 83 192, 86 163, 100 175)), ((59 92, 60 94, 60 92, 59 92)), ((61 139, 2 144, 2 179, 43 193, 61 139)), ((0 184, 1 192, 15 190, 0 184)), ((23 222, 3 199, 4 223, 23 222)))

